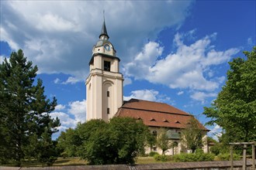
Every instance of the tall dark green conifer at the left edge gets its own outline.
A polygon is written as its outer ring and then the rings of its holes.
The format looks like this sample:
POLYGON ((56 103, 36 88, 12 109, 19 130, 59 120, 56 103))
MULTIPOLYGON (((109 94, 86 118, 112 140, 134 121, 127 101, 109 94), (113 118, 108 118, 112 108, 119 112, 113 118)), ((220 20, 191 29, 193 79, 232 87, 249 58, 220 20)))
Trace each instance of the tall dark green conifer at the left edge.
POLYGON ((60 126, 58 118, 50 117, 57 100, 43 94, 42 80, 33 84, 38 69, 32 65, 21 49, 0 64, 0 162, 19 166, 23 158, 40 154, 38 145, 60 126))

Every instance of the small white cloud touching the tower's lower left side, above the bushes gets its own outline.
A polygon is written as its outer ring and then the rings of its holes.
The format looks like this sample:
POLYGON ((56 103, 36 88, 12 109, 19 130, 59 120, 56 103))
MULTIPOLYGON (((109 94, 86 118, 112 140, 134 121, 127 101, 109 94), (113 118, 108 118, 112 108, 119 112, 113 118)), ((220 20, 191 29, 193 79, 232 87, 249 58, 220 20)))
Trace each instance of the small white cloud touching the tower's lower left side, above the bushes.
POLYGON ((74 115, 75 122, 84 123, 86 117, 86 100, 73 101, 69 103, 68 106, 70 107, 68 113, 74 115))

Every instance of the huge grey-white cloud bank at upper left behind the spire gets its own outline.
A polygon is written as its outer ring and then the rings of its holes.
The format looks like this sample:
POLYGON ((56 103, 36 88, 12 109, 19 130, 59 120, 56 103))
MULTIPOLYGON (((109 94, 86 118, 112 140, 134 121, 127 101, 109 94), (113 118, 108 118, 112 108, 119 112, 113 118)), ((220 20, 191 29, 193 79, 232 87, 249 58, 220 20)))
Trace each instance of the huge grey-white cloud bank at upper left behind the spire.
POLYGON ((3 1, 1 5, 1 41, 23 49, 39 73, 69 74, 65 82, 76 83, 88 74, 103 9, 109 40, 126 63, 145 39, 154 39, 165 27, 180 26, 192 2, 3 1))

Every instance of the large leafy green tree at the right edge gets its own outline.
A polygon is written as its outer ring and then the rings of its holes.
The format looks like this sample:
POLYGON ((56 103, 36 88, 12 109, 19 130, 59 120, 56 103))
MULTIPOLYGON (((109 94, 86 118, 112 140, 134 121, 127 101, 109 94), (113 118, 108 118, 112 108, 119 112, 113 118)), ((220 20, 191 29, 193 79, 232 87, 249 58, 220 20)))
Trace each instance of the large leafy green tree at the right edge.
POLYGON ((256 140, 256 46, 244 52, 247 59, 229 62, 227 82, 203 114, 212 118, 208 124, 219 124, 225 131, 225 142, 256 140), (236 135, 234 135, 236 134, 236 135))

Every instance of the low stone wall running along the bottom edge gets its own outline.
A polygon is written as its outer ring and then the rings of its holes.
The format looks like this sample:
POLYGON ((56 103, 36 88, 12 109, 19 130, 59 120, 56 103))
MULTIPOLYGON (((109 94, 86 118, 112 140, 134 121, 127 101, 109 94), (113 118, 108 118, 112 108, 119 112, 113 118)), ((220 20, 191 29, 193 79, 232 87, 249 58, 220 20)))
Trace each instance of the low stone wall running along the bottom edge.
MULTIPOLYGON (((235 161, 234 170, 241 170, 243 162, 235 161)), ((252 170, 252 162, 247 161, 247 170, 252 170)), ((54 167, 2 167, 0 170, 230 170, 230 162, 171 162, 145 165, 83 165, 83 166, 54 166, 54 167)))

